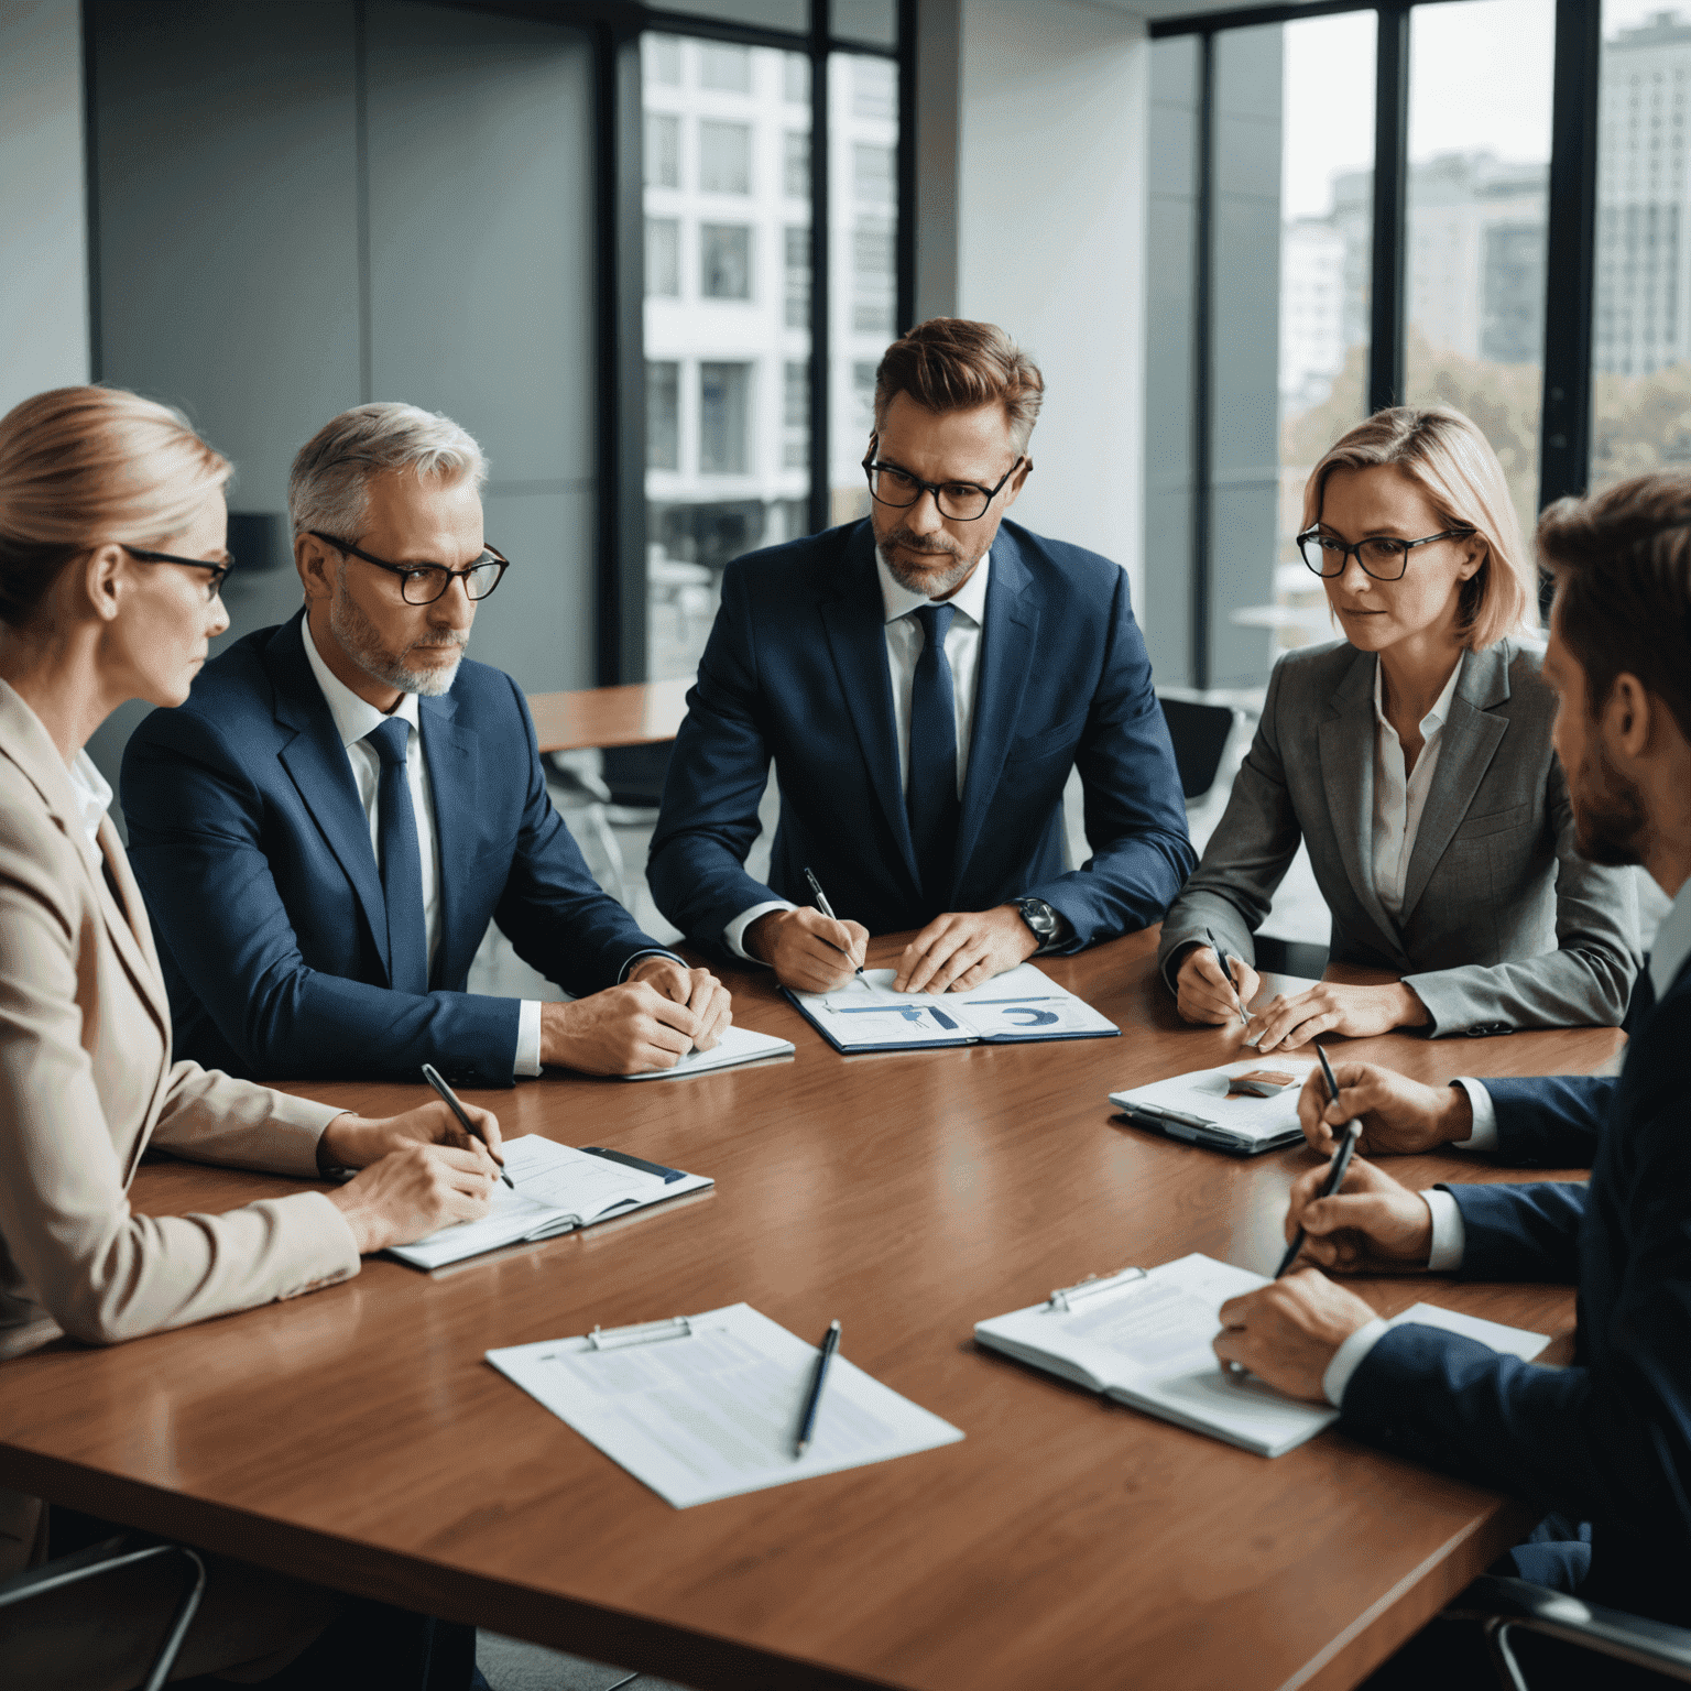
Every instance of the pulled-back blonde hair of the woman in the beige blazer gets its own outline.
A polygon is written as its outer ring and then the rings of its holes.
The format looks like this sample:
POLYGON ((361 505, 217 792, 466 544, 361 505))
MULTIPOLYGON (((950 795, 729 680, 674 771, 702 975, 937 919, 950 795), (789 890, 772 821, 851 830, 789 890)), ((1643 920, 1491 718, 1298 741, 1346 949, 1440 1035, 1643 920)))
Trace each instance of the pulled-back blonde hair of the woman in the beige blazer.
POLYGON ((179 411, 122 387, 54 387, 0 418, 0 622, 22 627, 96 546, 162 550, 232 465, 179 411))

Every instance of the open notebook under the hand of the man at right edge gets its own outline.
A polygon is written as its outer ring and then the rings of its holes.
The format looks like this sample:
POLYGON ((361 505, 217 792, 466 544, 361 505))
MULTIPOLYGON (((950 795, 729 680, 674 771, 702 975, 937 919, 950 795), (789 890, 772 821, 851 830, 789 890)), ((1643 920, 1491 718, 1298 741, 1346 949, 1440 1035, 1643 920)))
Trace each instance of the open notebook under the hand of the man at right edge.
MULTIPOLYGON (((1092 1392, 1238 1444, 1258 1456, 1287 1451, 1333 1426, 1339 1412, 1282 1397, 1255 1375, 1223 1373, 1211 1343, 1229 1297, 1268 1280, 1194 1251, 1160 1268, 1123 1268, 1103 1280, 1053 1292, 1045 1304, 976 1324, 974 1336, 1018 1361, 1045 1368, 1092 1392)), ((1532 1361, 1549 1344, 1478 1316, 1415 1304, 1392 1326, 1419 1322, 1478 1339, 1532 1361)))

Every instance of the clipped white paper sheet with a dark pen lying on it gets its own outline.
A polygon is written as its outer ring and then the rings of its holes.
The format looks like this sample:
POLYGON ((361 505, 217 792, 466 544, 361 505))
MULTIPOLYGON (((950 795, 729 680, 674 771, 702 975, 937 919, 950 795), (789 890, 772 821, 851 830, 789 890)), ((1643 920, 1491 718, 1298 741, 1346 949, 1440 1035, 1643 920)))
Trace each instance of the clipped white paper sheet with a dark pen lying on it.
POLYGON ((675 1508, 962 1437, 837 1354, 812 1444, 795 1459, 817 1348, 749 1304, 487 1360, 675 1508))

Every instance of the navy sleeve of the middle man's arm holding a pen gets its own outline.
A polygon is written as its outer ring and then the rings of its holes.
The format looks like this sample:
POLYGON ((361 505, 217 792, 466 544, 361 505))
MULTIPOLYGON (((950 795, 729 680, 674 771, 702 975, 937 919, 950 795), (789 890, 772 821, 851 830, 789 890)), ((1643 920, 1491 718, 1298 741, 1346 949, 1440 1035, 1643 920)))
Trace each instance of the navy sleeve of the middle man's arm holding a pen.
POLYGON ((646 864, 658 908, 693 940, 720 944, 722 930, 741 911, 780 896, 744 867, 768 781, 746 573, 729 565, 722 609, 675 737, 646 864))

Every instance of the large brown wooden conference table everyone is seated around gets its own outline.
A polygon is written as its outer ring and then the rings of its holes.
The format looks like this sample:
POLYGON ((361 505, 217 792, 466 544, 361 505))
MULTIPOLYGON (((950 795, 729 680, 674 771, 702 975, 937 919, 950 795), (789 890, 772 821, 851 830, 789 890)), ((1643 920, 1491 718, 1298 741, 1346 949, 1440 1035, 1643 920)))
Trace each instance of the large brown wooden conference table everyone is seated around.
MULTIPOLYGON (((377 1260, 287 1304, 10 1361, 0 1486, 697 1688, 1351 1686, 1530 1510, 1336 1432, 1265 1461, 971 1338, 1125 1263, 1202 1250, 1273 1268, 1307 1152, 1236 1162, 1108 1119, 1108 1091, 1236 1052, 1236 1033, 1175 1020, 1153 944, 1045 964, 1119 1040, 844 1059, 747 974, 731 979, 737 1018, 793 1038, 795 1059, 473 1094, 506 1133, 621 1146, 717 1187, 433 1278, 377 1260), (678 1512, 482 1361, 741 1299, 808 1339, 839 1316, 852 1361, 966 1441, 678 1512)), ((1442 1081, 1590 1070, 1618 1045, 1579 1030, 1339 1050, 1442 1081)), ((372 1113, 423 1097, 296 1091, 372 1113)), ((1510 1177, 1454 1152, 1393 1168, 1415 1185, 1510 1177)), ((134 1201, 216 1209, 277 1185, 157 1162, 134 1201)), ((1360 1285, 1382 1312, 1424 1289, 1360 1285)), ((1562 1287, 1434 1295, 1539 1331, 1573 1321, 1562 1287)))

